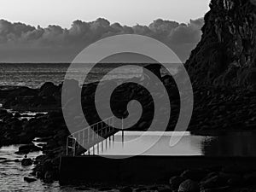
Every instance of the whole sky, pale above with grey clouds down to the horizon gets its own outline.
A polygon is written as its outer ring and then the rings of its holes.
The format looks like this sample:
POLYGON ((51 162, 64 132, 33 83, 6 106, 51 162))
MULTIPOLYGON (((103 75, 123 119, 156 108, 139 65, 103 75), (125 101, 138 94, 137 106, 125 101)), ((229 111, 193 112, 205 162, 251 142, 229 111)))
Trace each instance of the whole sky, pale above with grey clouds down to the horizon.
POLYGON ((208 4, 209 0, 1 0, 0 61, 68 62, 96 40, 123 33, 156 38, 186 60, 200 40, 208 4))

